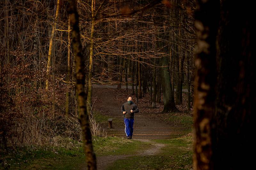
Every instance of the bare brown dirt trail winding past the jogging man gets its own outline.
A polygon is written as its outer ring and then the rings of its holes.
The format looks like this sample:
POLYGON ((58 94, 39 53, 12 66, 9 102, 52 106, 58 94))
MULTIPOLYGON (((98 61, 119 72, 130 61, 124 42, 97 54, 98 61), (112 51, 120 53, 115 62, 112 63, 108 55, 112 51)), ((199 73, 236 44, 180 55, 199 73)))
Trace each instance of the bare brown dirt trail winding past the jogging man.
MULTIPOLYGON (((97 87, 94 88, 94 95, 100 96, 100 107, 104 110, 105 115, 109 116, 109 118, 113 119, 113 129, 108 129, 108 124, 103 125, 104 129, 107 130, 107 134, 109 136, 117 136, 117 137, 125 137, 124 132, 124 115, 121 113, 121 106, 119 106, 118 101, 113 94, 115 94, 115 90, 113 88, 102 88, 97 87)), ((127 99, 124 99, 126 102, 127 99)), ((98 103, 99 104, 99 103, 98 103)), ((140 110, 140 104, 137 105, 140 110)), ((140 152, 135 155, 155 155, 161 151, 161 148, 164 147, 164 144, 159 144, 154 142, 154 139, 170 139, 172 135, 179 133, 178 129, 172 128, 170 125, 160 122, 159 120, 153 120, 147 117, 147 113, 144 113, 143 110, 140 110, 139 113, 134 116, 134 131, 132 140, 140 140, 143 142, 150 142, 152 147, 149 149, 140 152)), ((131 139, 127 139, 131 140, 131 139)), ((118 159, 124 159, 129 156, 134 155, 108 155, 108 156, 100 156, 97 157, 97 168, 100 170, 106 169, 109 165, 111 165, 114 161, 118 159)))

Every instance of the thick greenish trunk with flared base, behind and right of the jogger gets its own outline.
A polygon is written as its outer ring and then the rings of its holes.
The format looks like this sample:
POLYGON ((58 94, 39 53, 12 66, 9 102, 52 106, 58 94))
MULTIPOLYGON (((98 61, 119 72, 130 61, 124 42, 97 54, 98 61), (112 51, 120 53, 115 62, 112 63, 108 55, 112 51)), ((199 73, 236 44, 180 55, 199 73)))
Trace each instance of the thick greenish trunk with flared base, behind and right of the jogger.
POLYGON ((161 68, 160 68, 160 74, 161 74, 161 81, 163 85, 163 96, 164 96, 164 110, 165 112, 176 112, 178 109, 175 106, 174 102, 174 96, 172 95, 172 84, 171 84, 171 76, 168 66, 168 59, 167 57, 163 57, 160 59, 161 62, 161 68))

